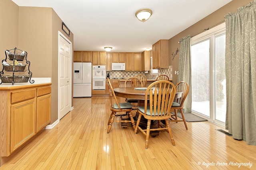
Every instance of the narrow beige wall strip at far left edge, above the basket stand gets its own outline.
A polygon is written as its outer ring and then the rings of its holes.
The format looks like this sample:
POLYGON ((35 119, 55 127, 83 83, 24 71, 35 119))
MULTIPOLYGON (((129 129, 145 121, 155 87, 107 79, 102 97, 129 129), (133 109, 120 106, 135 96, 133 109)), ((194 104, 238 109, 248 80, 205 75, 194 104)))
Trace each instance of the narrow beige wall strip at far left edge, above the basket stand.
MULTIPOLYGON (((6 49, 18 48, 19 7, 11 0, 0 0, 0 60, 6 49)), ((0 67, 2 71, 2 67, 0 67)))

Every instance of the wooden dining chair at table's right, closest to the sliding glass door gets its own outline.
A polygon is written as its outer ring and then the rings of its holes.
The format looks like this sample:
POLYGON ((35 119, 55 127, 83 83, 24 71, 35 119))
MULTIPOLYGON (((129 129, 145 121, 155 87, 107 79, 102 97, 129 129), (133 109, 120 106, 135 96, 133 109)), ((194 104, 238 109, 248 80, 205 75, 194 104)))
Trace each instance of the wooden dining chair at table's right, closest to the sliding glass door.
POLYGON ((170 117, 169 121, 176 122, 176 123, 178 123, 178 121, 183 121, 186 129, 188 130, 188 126, 187 126, 186 119, 184 117, 184 113, 183 113, 182 109, 184 109, 183 104, 184 104, 186 97, 188 96, 189 85, 187 82, 182 81, 182 82, 178 82, 178 84, 176 84, 175 87, 176 87, 176 90, 180 90, 183 93, 181 94, 181 97, 174 98, 174 102, 172 103, 172 108, 170 111, 171 117, 170 117), (178 119, 177 110, 180 110, 182 120, 178 119), (173 111, 174 111, 174 113, 173 113, 173 111))

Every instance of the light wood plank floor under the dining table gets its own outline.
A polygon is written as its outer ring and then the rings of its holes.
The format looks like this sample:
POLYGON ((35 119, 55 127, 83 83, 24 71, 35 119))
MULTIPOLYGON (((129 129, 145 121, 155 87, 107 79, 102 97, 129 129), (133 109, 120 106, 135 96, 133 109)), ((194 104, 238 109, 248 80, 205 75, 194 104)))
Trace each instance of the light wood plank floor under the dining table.
POLYGON ((176 147, 168 133, 150 137, 134 134, 132 126, 114 123, 106 133, 110 115, 108 97, 74 98, 74 109, 54 129, 45 129, 26 146, 2 158, 0 170, 189 170, 256 169, 256 146, 234 140, 209 122, 171 122, 176 147), (233 165, 220 165, 230 164, 233 165), (207 164, 210 164, 207 166, 207 164), (251 163, 240 166, 236 163, 251 163))

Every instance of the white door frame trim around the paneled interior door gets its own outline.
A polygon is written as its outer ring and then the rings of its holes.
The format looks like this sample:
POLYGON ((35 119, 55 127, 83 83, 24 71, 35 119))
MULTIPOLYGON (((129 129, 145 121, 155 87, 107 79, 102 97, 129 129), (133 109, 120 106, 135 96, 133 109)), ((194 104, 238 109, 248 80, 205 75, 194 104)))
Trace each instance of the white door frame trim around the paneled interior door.
POLYGON ((69 77, 69 84, 70 84, 70 111, 72 110, 72 42, 60 31, 58 31, 58 121, 60 121, 60 36, 64 38, 68 43, 70 43, 70 77, 69 77))

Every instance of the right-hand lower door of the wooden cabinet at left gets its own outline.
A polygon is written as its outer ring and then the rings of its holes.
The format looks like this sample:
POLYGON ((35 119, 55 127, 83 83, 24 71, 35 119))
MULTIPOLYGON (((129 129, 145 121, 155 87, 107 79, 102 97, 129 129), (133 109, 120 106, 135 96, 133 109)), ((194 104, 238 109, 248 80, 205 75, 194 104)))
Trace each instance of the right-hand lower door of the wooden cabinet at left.
POLYGON ((51 94, 40 96, 36 100, 36 133, 51 121, 51 94))

